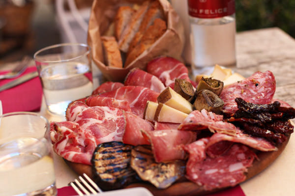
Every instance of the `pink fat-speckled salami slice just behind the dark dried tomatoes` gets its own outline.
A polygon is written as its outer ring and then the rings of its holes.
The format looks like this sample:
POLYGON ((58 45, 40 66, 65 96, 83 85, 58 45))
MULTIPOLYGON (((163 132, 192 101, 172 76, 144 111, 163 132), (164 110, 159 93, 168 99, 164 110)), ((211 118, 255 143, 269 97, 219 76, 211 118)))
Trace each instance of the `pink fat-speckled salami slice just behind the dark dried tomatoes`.
POLYGON ((235 98, 256 104, 270 103, 275 92, 275 79, 270 71, 256 72, 240 82, 225 87, 220 94, 224 101, 223 112, 234 114, 237 110, 235 98))

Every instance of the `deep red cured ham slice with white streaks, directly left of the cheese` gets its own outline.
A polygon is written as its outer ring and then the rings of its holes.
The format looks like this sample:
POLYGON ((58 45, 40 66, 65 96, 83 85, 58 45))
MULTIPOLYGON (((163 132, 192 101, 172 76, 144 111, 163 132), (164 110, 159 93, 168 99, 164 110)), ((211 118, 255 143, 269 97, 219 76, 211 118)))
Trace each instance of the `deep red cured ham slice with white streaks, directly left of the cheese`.
POLYGON ((126 100, 132 113, 143 118, 147 101, 157 102, 159 93, 142 86, 123 86, 99 96, 126 100))

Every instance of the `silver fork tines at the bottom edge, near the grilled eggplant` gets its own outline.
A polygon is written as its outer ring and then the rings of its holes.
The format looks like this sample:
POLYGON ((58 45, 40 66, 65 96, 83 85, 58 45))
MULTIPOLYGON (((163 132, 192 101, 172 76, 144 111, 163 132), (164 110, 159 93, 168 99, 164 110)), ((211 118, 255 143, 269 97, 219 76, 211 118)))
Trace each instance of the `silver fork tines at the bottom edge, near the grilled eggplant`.
POLYGON ((83 176, 79 176, 78 178, 81 180, 81 183, 75 179, 74 182, 71 182, 70 185, 74 188, 74 190, 79 194, 79 196, 84 196, 84 194, 80 191, 80 189, 86 194, 98 194, 102 193, 101 189, 93 182, 86 173, 83 173, 83 176), (83 178, 84 176, 84 178, 83 178), (88 181, 88 182, 87 182, 88 181), (82 185, 83 184, 83 185, 82 185), (78 188, 78 187, 80 188, 78 188))

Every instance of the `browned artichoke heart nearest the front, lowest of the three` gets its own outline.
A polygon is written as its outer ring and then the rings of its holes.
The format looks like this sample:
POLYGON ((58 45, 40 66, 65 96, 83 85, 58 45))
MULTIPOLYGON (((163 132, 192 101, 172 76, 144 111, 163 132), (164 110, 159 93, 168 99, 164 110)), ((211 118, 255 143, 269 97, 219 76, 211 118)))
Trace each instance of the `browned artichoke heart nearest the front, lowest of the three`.
POLYGON ((199 111, 201 111, 202 109, 206 109, 208 112, 220 114, 223 105, 223 100, 212 91, 201 90, 198 91, 196 94, 194 109, 199 111))

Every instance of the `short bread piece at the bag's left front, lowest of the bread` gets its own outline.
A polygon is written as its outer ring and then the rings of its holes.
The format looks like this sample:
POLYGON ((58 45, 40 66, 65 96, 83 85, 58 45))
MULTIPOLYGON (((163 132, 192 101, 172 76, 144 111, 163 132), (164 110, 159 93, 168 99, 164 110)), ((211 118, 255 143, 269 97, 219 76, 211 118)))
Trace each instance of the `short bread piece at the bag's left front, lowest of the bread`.
POLYGON ((115 37, 102 36, 101 41, 106 65, 110 67, 122 68, 122 58, 115 37))

